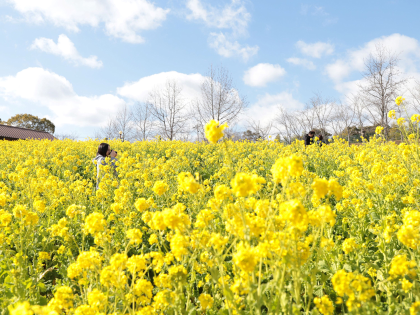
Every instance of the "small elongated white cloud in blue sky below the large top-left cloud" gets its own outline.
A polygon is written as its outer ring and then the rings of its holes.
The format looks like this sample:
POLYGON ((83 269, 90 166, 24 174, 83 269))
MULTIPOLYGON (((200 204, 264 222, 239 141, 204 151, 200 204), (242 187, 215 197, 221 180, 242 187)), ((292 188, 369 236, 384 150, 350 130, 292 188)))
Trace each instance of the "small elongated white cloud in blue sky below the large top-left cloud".
POLYGON ((97 56, 82 57, 76 47, 74 47, 74 43, 64 34, 58 36, 57 43, 50 38, 36 38, 32 42, 30 49, 39 49, 46 53, 61 56, 65 60, 71 61, 74 65, 81 64, 91 68, 100 68, 103 65, 102 61, 97 59, 97 56))

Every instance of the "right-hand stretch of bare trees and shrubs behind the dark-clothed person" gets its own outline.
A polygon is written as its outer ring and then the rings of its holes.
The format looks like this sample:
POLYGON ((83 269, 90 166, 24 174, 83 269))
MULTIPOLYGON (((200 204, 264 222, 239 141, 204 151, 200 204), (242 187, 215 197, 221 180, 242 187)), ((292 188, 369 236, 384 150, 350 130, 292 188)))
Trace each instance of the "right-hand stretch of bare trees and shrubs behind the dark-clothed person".
POLYGON ((316 92, 302 110, 288 111, 279 106, 274 119, 279 138, 290 143, 301 138, 305 130, 315 130, 323 137, 337 135, 354 142, 368 138, 376 126, 382 126, 386 139, 402 141, 403 136, 388 112, 393 109, 396 118, 406 120, 410 114, 420 112, 420 82, 412 84, 413 78, 403 76, 398 61, 398 54, 379 43, 364 60, 357 91, 346 95, 344 102, 316 92), (398 95, 407 98, 407 111, 396 105, 398 95))

